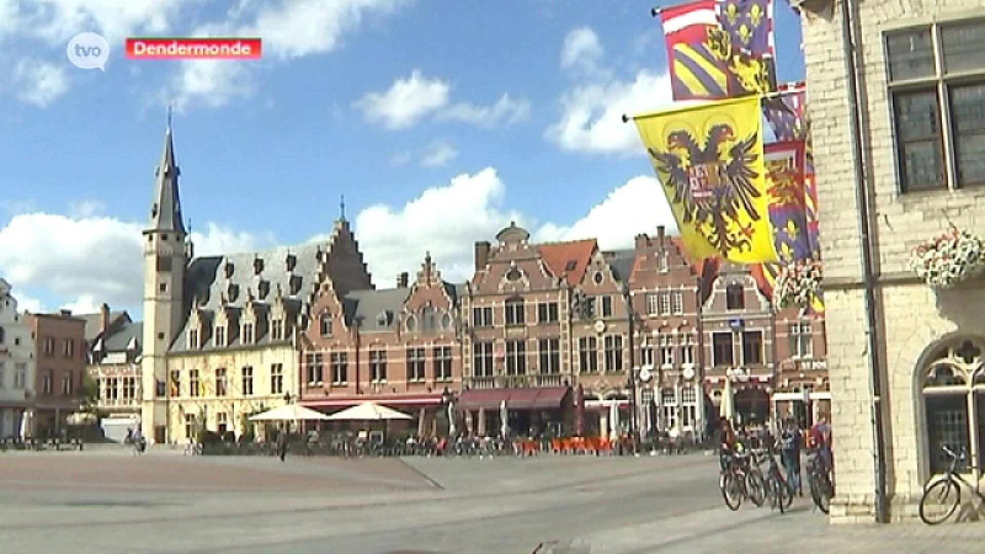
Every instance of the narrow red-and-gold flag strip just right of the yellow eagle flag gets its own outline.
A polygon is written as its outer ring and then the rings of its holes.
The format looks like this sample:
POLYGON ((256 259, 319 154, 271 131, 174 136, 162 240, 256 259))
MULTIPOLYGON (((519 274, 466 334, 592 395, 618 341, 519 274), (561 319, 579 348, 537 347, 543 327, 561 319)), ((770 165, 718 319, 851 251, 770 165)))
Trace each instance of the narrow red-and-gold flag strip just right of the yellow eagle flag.
POLYGON ((804 142, 765 146, 766 191, 773 244, 781 262, 812 258, 807 221, 804 142))

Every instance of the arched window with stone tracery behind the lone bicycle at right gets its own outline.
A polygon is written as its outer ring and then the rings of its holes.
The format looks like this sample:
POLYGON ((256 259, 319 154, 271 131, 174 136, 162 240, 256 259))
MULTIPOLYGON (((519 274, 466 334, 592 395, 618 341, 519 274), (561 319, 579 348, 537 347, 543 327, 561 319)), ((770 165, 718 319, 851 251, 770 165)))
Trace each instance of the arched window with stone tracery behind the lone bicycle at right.
POLYGON ((957 340, 941 347, 921 368, 930 469, 940 473, 951 458, 944 452, 985 452, 985 358, 982 343, 957 340))

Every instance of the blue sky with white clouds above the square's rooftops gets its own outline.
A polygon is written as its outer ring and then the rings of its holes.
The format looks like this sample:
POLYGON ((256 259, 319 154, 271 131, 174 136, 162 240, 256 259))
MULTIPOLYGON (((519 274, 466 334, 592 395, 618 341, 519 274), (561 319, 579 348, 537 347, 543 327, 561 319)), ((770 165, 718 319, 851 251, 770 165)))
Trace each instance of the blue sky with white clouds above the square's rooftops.
MULTIPOLYGON (((166 106, 198 255, 352 222, 378 288, 446 280, 515 220, 629 247, 674 227, 632 124, 671 103, 652 1, 0 0, 0 277, 21 308, 139 316, 166 106), (234 4, 234 5, 233 5, 234 4), (232 6, 230 8, 230 6, 232 6), (105 35, 105 72, 72 66, 105 35), (260 60, 128 60, 127 36, 259 36, 260 60)), ((803 79, 776 4, 777 71, 803 79)))

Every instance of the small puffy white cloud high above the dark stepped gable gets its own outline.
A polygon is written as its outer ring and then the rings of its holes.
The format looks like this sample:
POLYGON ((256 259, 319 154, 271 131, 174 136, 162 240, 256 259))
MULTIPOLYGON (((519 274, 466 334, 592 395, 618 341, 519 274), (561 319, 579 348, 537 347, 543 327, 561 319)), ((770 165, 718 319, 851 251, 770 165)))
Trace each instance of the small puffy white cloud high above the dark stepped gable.
POLYGON ((367 93, 354 104, 371 121, 387 129, 406 129, 420 118, 448 104, 451 86, 426 77, 415 69, 410 77, 397 79, 382 93, 367 93))

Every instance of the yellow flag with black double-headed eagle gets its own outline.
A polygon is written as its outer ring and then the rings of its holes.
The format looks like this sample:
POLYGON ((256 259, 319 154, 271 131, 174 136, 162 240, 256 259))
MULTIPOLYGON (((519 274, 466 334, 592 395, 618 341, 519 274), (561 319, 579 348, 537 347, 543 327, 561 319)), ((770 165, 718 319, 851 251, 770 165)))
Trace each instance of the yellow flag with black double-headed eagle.
POLYGON ((759 99, 634 118, 692 259, 776 261, 759 99))

